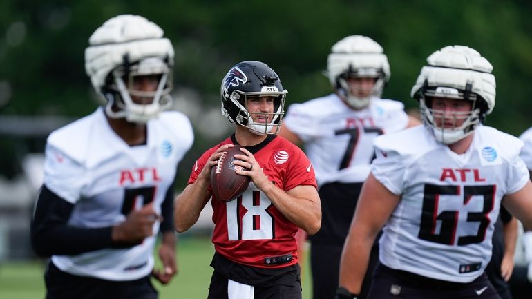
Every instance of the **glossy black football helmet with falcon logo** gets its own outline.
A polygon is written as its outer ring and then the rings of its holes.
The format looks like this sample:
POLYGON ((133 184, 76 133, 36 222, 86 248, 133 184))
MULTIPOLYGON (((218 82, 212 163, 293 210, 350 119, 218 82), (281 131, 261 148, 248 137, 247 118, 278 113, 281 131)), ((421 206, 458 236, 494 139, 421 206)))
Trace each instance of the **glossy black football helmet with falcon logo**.
POLYGON ((281 79, 272 68, 260 61, 243 61, 233 66, 222 79, 222 114, 240 126, 249 128, 258 135, 276 134, 281 128, 281 119, 285 113, 285 97, 288 93, 281 85, 281 79), (247 97, 274 97, 273 113, 267 114, 272 122, 258 124, 247 110, 247 97), (274 129, 275 128, 275 129, 274 129))

